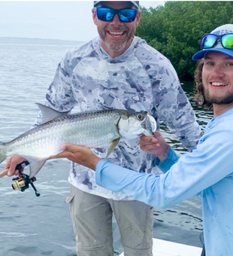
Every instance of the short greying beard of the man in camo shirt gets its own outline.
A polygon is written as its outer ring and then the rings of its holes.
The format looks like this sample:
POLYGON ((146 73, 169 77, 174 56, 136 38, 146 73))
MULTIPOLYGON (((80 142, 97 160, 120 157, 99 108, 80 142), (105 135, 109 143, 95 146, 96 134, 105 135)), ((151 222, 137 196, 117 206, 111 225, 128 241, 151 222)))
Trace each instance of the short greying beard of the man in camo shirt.
POLYGON ((131 29, 129 30, 128 27, 126 26, 122 26, 120 27, 111 27, 111 29, 117 31, 117 30, 124 30, 124 33, 126 33, 126 38, 122 39, 122 40, 107 40, 106 38, 106 33, 107 33, 107 27, 105 27, 104 29, 99 29, 98 28, 98 34, 101 38, 101 40, 103 41, 103 43, 113 52, 120 52, 121 50, 123 50, 126 45, 128 44, 128 42, 132 39, 132 37, 135 35, 135 29, 131 29))

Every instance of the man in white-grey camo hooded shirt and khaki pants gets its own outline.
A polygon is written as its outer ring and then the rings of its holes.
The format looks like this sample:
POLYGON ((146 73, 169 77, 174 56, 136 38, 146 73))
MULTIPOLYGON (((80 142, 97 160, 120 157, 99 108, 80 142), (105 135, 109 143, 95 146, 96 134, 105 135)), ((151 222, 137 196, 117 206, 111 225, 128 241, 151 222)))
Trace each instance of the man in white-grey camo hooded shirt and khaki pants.
MULTIPOLYGON (((148 111, 167 124, 186 148, 195 147, 201 130, 171 62, 135 36, 141 18, 136 2, 94 2, 99 37, 65 54, 47 91, 45 105, 58 111, 121 108, 148 111)), ((41 123, 41 113, 35 125, 41 123)), ((104 150, 94 150, 104 157, 104 150)), ((138 140, 120 142, 110 161, 138 172, 156 172, 155 156, 138 140)), ((22 158, 8 160, 10 172, 22 158)), ((9 175, 9 174, 8 174, 9 175)), ((152 255, 153 208, 95 183, 95 172, 71 163, 68 178, 71 219, 79 256, 112 256, 112 215, 126 256, 152 255)))

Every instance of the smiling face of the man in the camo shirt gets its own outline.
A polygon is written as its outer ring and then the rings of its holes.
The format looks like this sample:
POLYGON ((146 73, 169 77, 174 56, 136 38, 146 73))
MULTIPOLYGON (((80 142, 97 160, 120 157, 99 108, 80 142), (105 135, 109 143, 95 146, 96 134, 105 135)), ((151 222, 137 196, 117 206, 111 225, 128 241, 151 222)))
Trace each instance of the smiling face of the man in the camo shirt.
MULTIPOLYGON (((113 8, 113 9, 130 9, 132 7, 130 2, 102 2, 101 7, 113 8)), ((101 46, 112 57, 119 56, 126 49, 129 48, 132 43, 132 39, 135 35, 135 29, 139 24, 141 13, 138 13, 135 20, 131 23, 123 23, 119 20, 116 14, 112 21, 106 22, 98 20, 95 13, 95 9, 92 9, 92 18, 98 29, 98 34, 101 37, 101 46)))

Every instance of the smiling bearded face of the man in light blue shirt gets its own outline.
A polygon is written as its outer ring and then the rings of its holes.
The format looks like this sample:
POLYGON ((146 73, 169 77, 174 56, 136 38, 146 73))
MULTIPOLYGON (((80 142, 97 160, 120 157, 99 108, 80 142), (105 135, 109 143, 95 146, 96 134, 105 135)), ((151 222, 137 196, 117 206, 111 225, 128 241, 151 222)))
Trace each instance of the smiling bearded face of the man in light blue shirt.
POLYGON ((213 111, 233 106, 233 58, 224 53, 207 52, 202 69, 204 97, 213 111))

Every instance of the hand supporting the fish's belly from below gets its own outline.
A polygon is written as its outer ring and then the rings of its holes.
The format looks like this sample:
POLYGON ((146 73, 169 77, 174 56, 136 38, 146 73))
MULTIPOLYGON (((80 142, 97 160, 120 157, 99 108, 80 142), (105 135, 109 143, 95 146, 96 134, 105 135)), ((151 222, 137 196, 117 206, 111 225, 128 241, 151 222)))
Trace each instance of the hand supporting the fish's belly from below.
POLYGON ((50 157, 50 159, 67 158, 68 160, 79 163, 82 166, 86 166, 93 170, 95 170, 95 166, 98 161, 101 160, 100 157, 97 157, 89 148, 84 146, 63 144, 60 149, 62 152, 56 156, 50 157))

